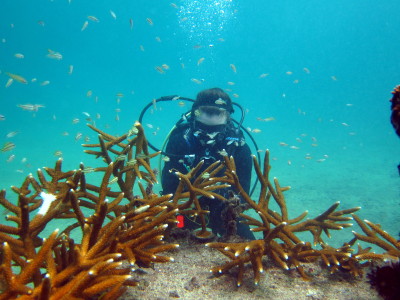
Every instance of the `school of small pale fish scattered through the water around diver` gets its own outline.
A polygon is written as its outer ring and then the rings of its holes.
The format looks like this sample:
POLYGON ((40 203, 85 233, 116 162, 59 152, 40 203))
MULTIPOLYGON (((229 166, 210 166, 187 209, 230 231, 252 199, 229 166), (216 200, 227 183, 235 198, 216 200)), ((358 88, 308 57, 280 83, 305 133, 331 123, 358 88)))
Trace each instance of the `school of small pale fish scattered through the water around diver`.
MULTIPOLYGON (((68 1, 71 3, 72 1, 68 1)), ((175 4, 175 3, 169 3, 168 4, 169 9, 172 9, 175 11, 179 11, 181 9, 181 4, 175 4)), ((135 17, 132 13, 132 15, 125 15, 125 12, 118 11, 117 9, 107 9, 105 12, 101 11, 96 11, 94 13, 85 13, 85 15, 81 16, 78 21, 74 24, 71 24, 73 27, 73 31, 80 36, 85 37, 85 39, 88 41, 91 41, 90 34, 93 33, 96 29, 100 28, 101 26, 104 26, 103 24, 107 22, 111 22, 111 24, 123 24, 123 28, 127 30, 127 32, 132 35, 134 42, 131 51, 136 51, 135 55, 147 55, 147 53, 150 53, 154 51, 152 48, 159 48, 159 51, 162 51, 164 43, 167 43, 169 41, 168 37, 165 37, 160 30, 160 24, 162 23, 159 19, 157 19, 157 16, 154 13, 149 13, 151 15, 145 16, 145 17, 135 17), (118 17, 117 17, 118 14, 118 17), (151 34, 151 42, 149 41, 144 41, 144 40, 135 40, 137 36, 139 36, 138 31, 143 30, 143 28, 146 28, 147 32, 151 34), (137 53, 138 52, 138 53, 137 53)), ((61 17, 60 17, 61 18, 61 17)), ((187 17, 183 17, 179 19, 179 22, 186 22, 188 21, 187 17)), ((17 24, 10 24, 11 29, 16 27, 17 24)), ((33 25, 32 25, 33 26, 33 25)), ((40 16, 40 19, 35 21, 35 26, 39 27, 41 30, 45 30, 49 26, 53 26, 52 22, 49 20, 46 20, 43 16, 40 16), (42 19, 43 18, 43 19, 42 19)), ((110 26, 110 24, 108 25, 110 26)), ((113 34, 118 34, 117 32, 113 34)), ((9 38, 6 39, 6 37, 2 38, 1 42, 4 45, 9 45, 8 43, 9 38)), ((156 80, 163 80, 163 79, 168 79, 171 78, 169 77, 170 74, 173 74, 174 72, 187 72, 188 77, 187 77, 187 82, 184 84, 191 84, 193 89, 198 89, 198 86, 196 85, 205 85, 207 82, 207 78, 203 78, 203 72, 204 70, 207 70, 213 63, 214 60, 210 59, 209 56, 206 55, 206 52, 203 50, 206 49, 214 49, 217 48, 220 44, 225 43, 225 38, 219 37, 214 41, 207 41, 206 43, 201 43, 197 42, 196 44, 190 45, 190 49, 192 51, 195 51, 195 56, 193 56, 191 59, 184 59, 184 58, 179 58, 179 61, 168 61, 165 59, 165 57, 158 56, 160 59, 157 58, 150 64, 148 67, 149 73, 152 72, 152 74, 155 73, 154 76, 157 76, 156 80), (197 51, 197 52, 196 52, 197 51), (161 74, 160 75, 157 75, 161 74), (161 79, 160 79, 161 78, 161 79)), ((23 48, 19 47, 18 49, 13 49, 12 52, 10 52, 10 59, 13 60, 15 63, 22 64, 26 63, 30 59, 34 58, 34 54, 30 53, 27 49, 29 48, 23 48)), ((118 45, 116 45, 116 51, 118 50, 118 45)), ((101 51, 101 49, 99 49, 101 51)), ((40 53, 38 54, 40 57, 42 57, 48 64, 51 64, 50 68, 57 68, 58 66, 62 65, 62 72, 64 74, 69 75, 68 78, 75 78, 75 76, 83 76, 80 77, 80 81, 82 81, 82 78, 84 78, 86 70, 82 68, 82 66, 74 62, 71 59, 71 51, 69 49, 61 47, 59 43, 52 43, 49 41, 48 44, 43 45, 40 53), (47 48, 49 47, 49 48, 47 48), (54 48, 53 48, 54 47, 54 48)), ((84 50, 82 49, 77 49, 77 53, 85 54, 88 59, 91 57, 91 53, 85 53, 84 50), (79 52, 81 51, 81 52, 79 52)), ((122 52, 121 52, 122 53, 122 52)), ((46 63, 44 62, 44 63, 46 63)), ((261 65, 261 64, 260 64, 261 65)), ((43 66, 44 69, 47 68, 48 66, 43 66)), ((230 94, 232 98, 235 99, 240 99, 241 104, 246 104, 246 98, 252 97, 252 95, 249 94, 249 91, 243 91, 241 90, 241 76, 242 75, 242 70, 246 69, 246 66, 244 65, 243 61, 240 61, 239 58, 229 58, 229 61, 224 62, 223 65, 223 77, 226 78, 224 79, 225 82, 225 90, 230 94), (237 67, 239 66, 239 68, 237 67), (226 76, 225 76, 226 75, 226 76), (243 100, 242 100, 243 99, 243 100)), ((254 68, 256 69, 256 68, 254 68)), ((23 89, 27 88, 29 89, 30 86, 32 87, 43 87, 41 88, 43 91, 51 89, 54 85, 60 84, 59 80, 50 76, 46 76, 43 74, 40 74, 39 72, 37 74, 34 74, 30 70, 27 70, 26 68, 24 69, 23 67, 15 67, 15 68, 10 68, 9 70, 0 70, 0 78, 3 80, 2 85, 0 88, 5 88, 7 89, 7 92, 13 92, 16 91, 17 89, 23 89)), ((281 76, 282 78, 290 78, 290 82, 293 84, 296 84, 297 86, 301 86, 302 83, 306 80, 308 74, 311 74, 311 71, 307 67, 303 67, 300 70, 298 68, 293 68, 293 69, 284 69, 280 72, 280 74, 274 74, 271 70, 268 70, 268 68, 261 68, 258 69, 257 71, 254 71, 253 80, 258 81, 258 82, 268 82, 268 80, 272 80, 272 78, 275 76, 281 76), (257 73, 256 73, 257 72, 257 73), (303 76, 302 76, 303 75, 303 76)), ((107 76, 106 71, 104 71, 103 76, 107 76)), ((247 76, 247 74, 246 74, 247 76)), ((328 75, 328 80, 330 79, 331 81, 338 81, 338 78, 335 75, 328 75)), ((170 80, 170 79, 169 79, 170 80)), ((90 84, 90 78, 84 78, 83 81, 87 81, 90 84)), ((24 114, 23 117, 26 118, 26 116, 29 117, 43 117, 44 119, 47 118, 48 120, 52 120, 51 122, 59 122, 60 119, 67 119, 67 121, 64 124, 64 127, 60 130, 60 135, 73 139, 74 141, 85 141, 89 142, 91 138, 95 138, 94 135, 88 135, 85 131, 85 123, 90 123, 95 125, 96 122, 100 123, 103 118, 107 119, 108 123, 104 124, 105 128, 109 128, 113 124, 112 122, 118 122, 121 121, 124 118, 124 113, 125 111, 121 108, 122 104, 124 102, 130 102, 132 100, 132 95, 133 90, 128 89, 125 90, 126 86, 121 85, 115 88, 115 90, 112 92, 112 95, 104 95, 103 92, 100 91, 100 89, 96 86, 90 86, 86 85, 85 89, 82 89, 80 91, 80 94, 78 97, 82 99, 82 110, 87 109, 87 111, 77 111, 73 112, 70 115, 61 115, 60 113, 54 113, 52 111, 52 107, 56 105, 57 99, 54 99, 54 103, 49 103, 49 100, 42 100, 40 98, 19 98, 19 102, 13 104, 14 109, 15 106, 17 107, 16 113, 21 113, 24 114), (86 97, 85 97, 86 93, 86 97), (97 103, 106 103, 109 99, 112 99, 114 101, 113 103, 116 105, 116 107, 112 107, 109 110, 109 114, 112 113, 112 116, 105 116, 102 117, 99 112, 96 111, 96 107, 92 106, 92 109, 88 109, 86 104, 91 103, 91 104, 97 104, 97 103), (86 101, 86 102, 85 102, 86 101), (37 104, 40 103, 40 104, 37 104), (24 112, 20 112, 24 111, 24 112), (29 113, 26 113, 29 112, 29 113), (83 116, 82 116, 83 115, 83 116)), ((285 99, 290 98, 290 92, 289 88, 288 91, 282 91, 282 99, 283 101, 285 99)), ((45 92, 43 92, 45 93, 45 92)), ((27 93, 29 95, 29 93, 27 93)), ((44 97, 45 98, 45 97, 44 97)), ((174 100, 179 100, 179 97, 174 100)), ((11 103, 11 102, 10 102, 11 103)), ((108 103, 108 102, 107 102, 108 103)), ((215 100, 215 104, 217 105, 226 105, 226 101, 219 98, 215 100)), ((108 104, 107 104, 108 105, 108 104)), ((184 101, 177 101, 176 105, 178 106, 177 109, 188 109, 187 104, 184 101)), ((273 105, 273 103, 272 103, 273 105)), ((346 104, 347 107, 352 107, 351 103, 346 104)), ((152 113, 155 113, 157 111, 161 111, 162 107, 158 106, 156 102, 153 102, 152 106, 152 113)), ((1 112, 1 111, 0 111, 1 112)), ((196 112, 195 112, 196 113, 196 112)), ((262 116, 262 110, 258 110, 257 113, 260 113, 261 116, 256 117, 255 120, 246 120, 249 123, 252 124, 252 127, 248 127, 247 131, 252 133, 252 134, 257 134, 258 136, 263 136, 263 135, 268 135, 268 130, 270 125, 279 124, 281 117, 276 118, 275 116, 268 116, 264 115, 262 116), (254 121, 254 122, 253 122, 254 121), (258 122, 257 122, 258 121, 258 122), (273 121, 273 122, 272 122, 273 121), (256 125, 257 124, 257 125, 256 125)), ((299 110, 299 114, 305 115, 304 111, 299 110)), ((132 116, 132 114, 130 113, 132 116)), ((7 114, 0 114, 0 121, 3 123, 7 122, 12 122, 14 119, 14 116, 10 116, 7 114)), ((46 119, 46 120, 47 120, 46 119)), ((27 119, 29 120, 29 119, 27 119)), ((46 121, 50 122, 50 121, 46 121)), ((116 123, 115 123, 116 124, 116 123)), ((340 124, 343 128, 351 128, 351 122, 345 122, 345 121, 338 121, 338 124, 340 124)), ((156 135, 159 130, 160 126, 158 126, 156 123, 145 123, 145 128, 149 130, 153 135, 156 135)), ((53 125, 51 125, 53 126, 53 125)), ((132 127, 128 131, 128 135, 135 135, 137 133, 136 127, 132 127)), ((10 154, 7 157, 2 158, 5 160, 7 163, 10 164, 15 164, 16 161, 16 154, 14 153, 14 150, 16 148, 15 143, 17 143, 17 140, 20 136, 27 135, 29 134, 28 132, 20 131, 17 126, 15 128, 11 128, 9 131, 6 131, 2 134, 3 136, 3 146, 1 147, 1 152, 9 152, 10 154), (7 140, 8 139, 8 140, 7 140), (12 142, 12 141, 15 141, 12 142)), ((349 131, 349 135, 356 135, 355 131, 349 131)), ((209 134, 210 140, 207 142, 208 144, 215 144, 216 141, 214 140, 215 136, 213 136, 213 133, 209 134)), ((316 156, 312 155, 313 149, 318 149, 320 147, 319 142, 315 137, 311 137, 311 140, 309 143, 306 142, 306 140, 309 139, 309 137, 306 137, 306 135, 301 135, 299 137, 295 138, 294 142, 279 142, 279 146, 282 147, 282 151, 305 151, 304 152, 304 158, 306 160, 312 160, 316 161, 319 163, 325 162, 328 159, 328 155, 324 154, 322 157, 321 156, 316 156), (310 148, 311 147, 311 148, 310 148)), ((227 145, 230 145, 232 143, 238 144, 236 141, 228 141, 227 145)), ((22 145, 22 147, 26 147, 26 145, 22 145)), ((18 147, 18 149, 22 148, 18 147)), ((51 153, 56 156, 56 157, 62 157, 63 152, 62 150, 59 149, 51 149, 51 153)), ((260 150, 261 151, 261 150, 260 150)), ((225 149, 221 150, 220 155, 226 156, 228 153, 225 151, 225 149)), ((135 159, 131 159, 130 161, 127 161, 127 164, 135 164, 136 159, 141 159, 141 158, 146 158, 146 157, 136 157, 135 159)), ((20 160, 21 158, 17 157, 17 160, 20 160)), ((115 158, 116 160, 127 160, 126 156, 118 156, 115 158)), ((163 161, 167 162, 169 161, 170 158, 168 156, 163 157, 163 161)), ((23 163, 25 164, 27 162, 27 158, 24 157, 22 159, 23 163)), ((288 164, 292 165, 295 163, 295 159, 291 158, 288 160, 288 164)), ((18 172, 22 171, 21 168, 17 170, 18 172)), ((95 169, 87 167, 82 170, 84 173, 90 173, 95 171, 95 169)), ((113 184, 116 182, 117 178, 113 178, 110 180, 109 184, 113 184)))

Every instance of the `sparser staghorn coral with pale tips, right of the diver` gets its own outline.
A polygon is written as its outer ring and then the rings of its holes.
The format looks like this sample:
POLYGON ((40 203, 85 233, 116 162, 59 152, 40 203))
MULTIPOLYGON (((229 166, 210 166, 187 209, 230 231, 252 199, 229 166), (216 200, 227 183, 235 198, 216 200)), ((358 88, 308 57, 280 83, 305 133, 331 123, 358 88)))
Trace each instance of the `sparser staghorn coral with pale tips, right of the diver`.
POLYGON ((331 269, 331 272, 341 269, 349 271, 354 276, 360 276, 362 274, 362 262, 365 260, 385 259, 388 256, 393 258, 400 257, 398 252, 399 242, 396 242, 393 237, 381 230, 379 226, 365 221, 371 227, 371 229, 368 229, 354 214, 354 212, 360 209, 359 207, 336 211, 339 206, 339 202, 336 202, 325 212, 313 219, 302 221, 306 217, 307 212, 290 219, 283 195, 283 192, 288 190, 289 187, 281 187, 276 178, 273 180, 273 184, 269 180, 271 167, 269 165, 268 151, 265 154, 262 170, 255 157, 253 157, 253 161, 258 180, 261 183, 261 191, 257 202, 252 200, 243 191, 236 176, 234 162, 228 158, 225 158, 225 165, 227 167, 225 175, 228 177, 227 181, 235 185, 240 191, 240 195, 246 203, 258 213, 260 220, 245 214, 241 216, 246 219, 245 222, 247 224, 254 226, 252 229, 254 232, 263 233, 263 239, 242 243, 213 242, 206 244, 206 246, 217 249, 230 259, 224 265, 212 268, 211 272, 213 274, 223 274, 237 266, 239 269, 237 285, 240 286, 245 266, 247 263, 251 263, 254 272, 254 281, 257 284, 260 280, 260 274, 264 271, 262 259, 264 256, 267 256, 283 269, 289 270, 293 266, 305 280, 309 280, 310 277, 306 274, 302 265, 314 262, 317 259, 321 259, 331 269), (271 200, 274 200, 278 204, 280 212, 269 208, 271 200), (331 230, 341 230, 350 227, 352 224, 348 223, 348 221, 353 218, 367 236, 354 233, 355 238, 338 249, 324 243, 321 237, 323 232, 330 237, 331 230), (310 243, 303 242, 296 236, 297 232, 304 231, 310 232, 314 239, 314 246, 320 245, 322 249, 315 249, 310 243), (386 239, 387 242, 378 238, 377 233, 386 239), (371 253, 370 248, 362 249, 359 246, 358 252, 353 253, 354 249, 351 246, 357 240, 373 243, 387 250, 387 252, 385 254, 371 253))

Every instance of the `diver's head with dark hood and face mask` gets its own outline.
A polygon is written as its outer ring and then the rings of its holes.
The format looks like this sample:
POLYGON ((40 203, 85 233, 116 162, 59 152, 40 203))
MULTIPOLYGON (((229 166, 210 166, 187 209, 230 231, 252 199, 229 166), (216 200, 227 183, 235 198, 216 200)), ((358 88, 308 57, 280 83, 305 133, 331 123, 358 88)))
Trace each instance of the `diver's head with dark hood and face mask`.
POLYGON ((231 113, 233 113, 232 100, 220 88, 199 92, 192 106, 194 120, 207 126, 227 124, 231 113))

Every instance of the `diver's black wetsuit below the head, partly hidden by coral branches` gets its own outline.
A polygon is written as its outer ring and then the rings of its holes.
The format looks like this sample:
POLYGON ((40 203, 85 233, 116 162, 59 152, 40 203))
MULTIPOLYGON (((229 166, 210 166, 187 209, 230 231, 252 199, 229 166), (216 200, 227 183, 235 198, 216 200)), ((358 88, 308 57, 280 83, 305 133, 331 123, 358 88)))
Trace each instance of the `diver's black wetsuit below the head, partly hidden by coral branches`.
MULTIPOLYGON (((187 123, 178 126, 170 135, 165 152, 169 156, 162 170, 163 194, 174 193, 179 184, 178 177, 171 169, 181 173, 188 173, 188 170, 196 166, 201 160, 204 170, 216 160, 223 161, 222 154, 233 156, 236 164, 236 172, 240 184, 246 193, 250 190, 252 159, 249 146, 245 143, 243 133, 236 130, 232 123, 227 125, 207 126, 202 123, 187 123), (190 125, 192 124, 192 125, 190 125), (226 151, 226 153, 224 153, 226 151)), ((224 170, 218 175, 222 175, 224 170)), ((237 193, 237 191, 234 191, 237 193)), ((225 198, 228 190, 218 190, 218 193, 225 198)), ((219 199, 202 197, 200 204, 203 209, 209 210, 208 227, 216 234, 223 236, 226 232, 221 213, 225 204, 219 199)), ((185 219, 185 228, 194 229, 199 225, 185 219)), ((254 239, 253 233, 246 224, 237 222, 237 234, 246 239, 254 239)))

